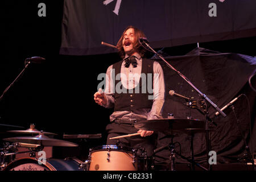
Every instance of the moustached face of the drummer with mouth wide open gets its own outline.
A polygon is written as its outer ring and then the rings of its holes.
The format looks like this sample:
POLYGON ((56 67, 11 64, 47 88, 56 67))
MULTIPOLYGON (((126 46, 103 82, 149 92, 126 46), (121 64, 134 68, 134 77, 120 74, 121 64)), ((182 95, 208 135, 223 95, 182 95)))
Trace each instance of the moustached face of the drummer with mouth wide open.
POLYGON ((123 34, 123 49, 127 55, 134 55, 137 50, 134 49, 135 36, 134 29, 129 28, 126 30, 125 34, 123 34))

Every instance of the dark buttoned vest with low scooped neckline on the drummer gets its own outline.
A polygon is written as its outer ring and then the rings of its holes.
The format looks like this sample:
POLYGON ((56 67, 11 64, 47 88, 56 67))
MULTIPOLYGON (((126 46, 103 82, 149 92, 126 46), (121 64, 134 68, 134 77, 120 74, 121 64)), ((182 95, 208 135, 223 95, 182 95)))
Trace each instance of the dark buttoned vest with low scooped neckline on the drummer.
MULTIPOLYGON (((115 72, 114 72, 115 75, 112 75, 112 78, 116 78, 117 75, 121 72, 122 63, 123 63, 123 60, 113 64, 113 69, 115 69, 115 72)), ((152 84, 153 84, 152 82, 154 77, 153 65, 154 65, 154 61, 152 60, 149 60, 149 59, 142 60, 141 74, 142 73, 146 74, 146 81, 142 82, 142 76, 141 76, 139 80, 139 84, 134 89, 129 90, 124 88, 121 83, 121 79, 113 81, 115 83, 115 88, 119 83, 118 88, 122 89, 122 93, 117 93, 117 89, 115 89, 114 111, 134 111, 137 109, 151 109, 153 100, 149 100, 148 96, 152 96, 153 94, 148 93, 147 86, 151 86, 150 88, 152 89, 152 84), (147 73, 151 73, 152 75, 152 77, 150 78, 151 85, 147 85, 148 84, 147 73)))

